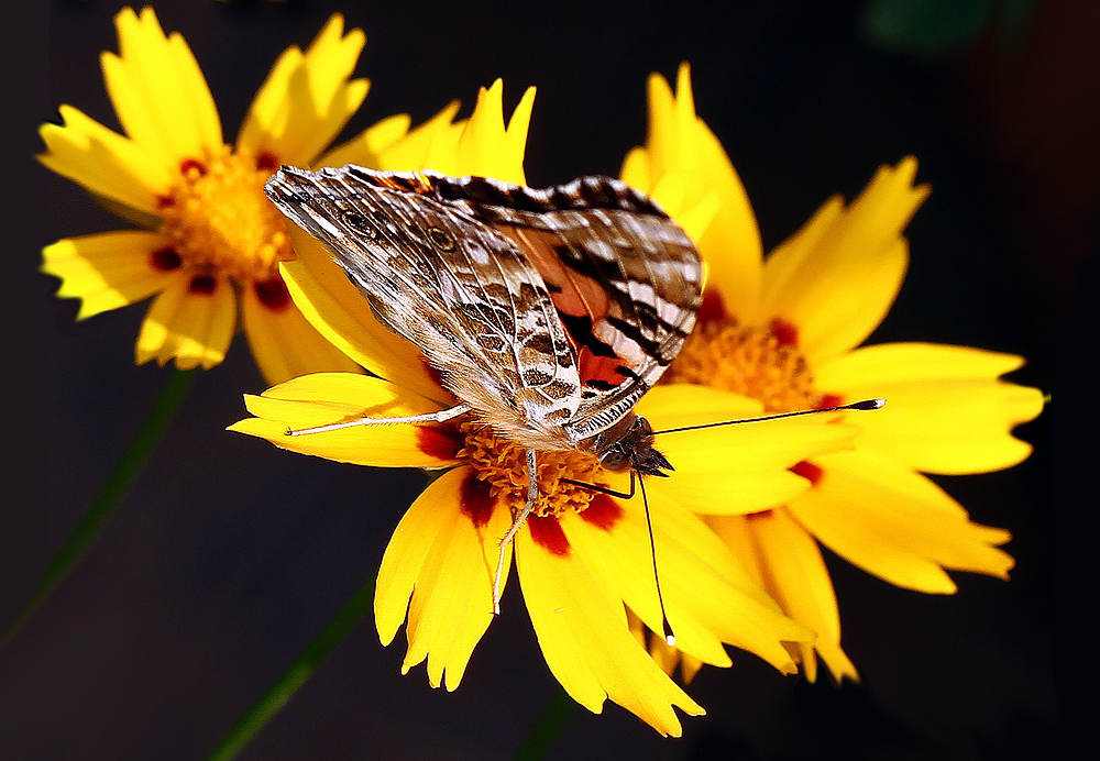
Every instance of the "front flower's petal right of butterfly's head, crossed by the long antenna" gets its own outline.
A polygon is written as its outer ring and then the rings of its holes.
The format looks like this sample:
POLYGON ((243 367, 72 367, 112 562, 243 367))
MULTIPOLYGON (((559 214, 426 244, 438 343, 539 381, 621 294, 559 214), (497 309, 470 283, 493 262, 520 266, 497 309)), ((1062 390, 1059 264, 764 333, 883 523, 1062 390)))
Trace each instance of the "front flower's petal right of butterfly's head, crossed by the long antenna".
POLYGON ((756 512, 795 497, 809 484, 788 468, 817 453, 850 448, 858 432, 821 415, 660 433, 763 413, 755 400, 688 384, 657 386, 637 410, 658 431, 657 449, 675 468, 668 478, 647 482, 654 499, 708 515, 756 512))

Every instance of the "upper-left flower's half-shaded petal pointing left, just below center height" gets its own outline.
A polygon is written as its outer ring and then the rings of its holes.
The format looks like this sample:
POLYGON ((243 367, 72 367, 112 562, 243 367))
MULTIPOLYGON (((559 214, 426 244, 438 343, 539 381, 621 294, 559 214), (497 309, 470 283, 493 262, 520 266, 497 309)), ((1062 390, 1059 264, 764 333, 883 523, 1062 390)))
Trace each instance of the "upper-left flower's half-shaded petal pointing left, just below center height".
POLYGON ((152 265, 172 241, 155 232, 122 231, 67 238, 42 250, 42 272, 62 278, 57 296, 79 298, 78 320, 148 298, 178 272, 152 265))

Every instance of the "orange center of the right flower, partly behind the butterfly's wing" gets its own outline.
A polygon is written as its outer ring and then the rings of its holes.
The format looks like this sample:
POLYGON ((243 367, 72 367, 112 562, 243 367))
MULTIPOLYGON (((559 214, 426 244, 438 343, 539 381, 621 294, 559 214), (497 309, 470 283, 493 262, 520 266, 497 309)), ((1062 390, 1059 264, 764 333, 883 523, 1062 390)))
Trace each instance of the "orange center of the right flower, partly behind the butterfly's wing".
POLYGON ((700 322, 661 379, 735 391, 763 402, 769 412, 814 409, 833 400, 814 391, 798 329, 779 318, 767 326, 743 326, 727 315, 700 322))

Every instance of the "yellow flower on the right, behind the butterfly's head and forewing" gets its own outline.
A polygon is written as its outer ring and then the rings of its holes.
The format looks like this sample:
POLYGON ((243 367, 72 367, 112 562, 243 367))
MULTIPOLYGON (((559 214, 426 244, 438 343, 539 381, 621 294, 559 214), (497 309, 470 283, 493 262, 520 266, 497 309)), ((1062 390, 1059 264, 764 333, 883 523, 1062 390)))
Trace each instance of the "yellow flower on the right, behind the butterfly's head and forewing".
MULTIPOLYGON (((928 192, 916 162, 879 169, 851 203, 826 202, 767 258, 729 158, 695 115, 688 66, 676 95, 649 80, 645 147, 623 178, 673 217, 716 208, 697 238, 710 266, 700 322, 662 380, 735 390, 787 411, 884 397, 862 413, 851 451, 815 455, 793 470, 812 488, 782 506, 708 523, 791 617, 817 633, 792 650, 806 675, 816 653, 837 680, 856 679, 840 649, 840 620, 817 547, 888 582, 952 593, 946 570, 1007 577, 1008 531, 979 526, 924 473, 981 473, 1014 465, 1031 448, 1010 434, 1042 409, 1040 393, 1000 380, 1023 360, 931 343, 857 348, 890 309, 908 264, 902 229, 928 192), (816 540, 816 541, 815 541, 816 540)), ((700 514, 730 511, 701 495, 700 514)), ((733 614, 736 615, 736 614, 733 614)))

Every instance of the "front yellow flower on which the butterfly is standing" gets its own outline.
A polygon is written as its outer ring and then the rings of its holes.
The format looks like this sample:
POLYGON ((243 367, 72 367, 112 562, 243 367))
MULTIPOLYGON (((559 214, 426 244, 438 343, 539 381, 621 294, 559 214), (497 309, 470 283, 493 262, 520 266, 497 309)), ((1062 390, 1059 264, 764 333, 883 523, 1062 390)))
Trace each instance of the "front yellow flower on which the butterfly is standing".
MULTIPOLYGON (((535 91, 527 91, 505 128, 502 87, 497 81, 482 90, 469 122, 457 130, 443 124, 427 145, 421 142, 422 164, 391 168, 430 164, 449 174, 522 183, 535 91)), ((395 145, 389 157, 399 148, 395 145)), ((342 462, 446 471, 410 507, 391 540, 378 573, 375 617, 384 644, 407 619, 404 670, 427 660, 431 685, 454 690, 493 619, 499 541, 526 500, 525 450, 471 418, 287 435, 288 429, 425 415, 454 405, 417 348, 374 321, 320 244, 296 228, 292 234, 297 258, 285 262, 283 272, 295 300, 319 331, 378 377, 322 373, 296 378, 246 397, 255 417, 231 429, 342 462)), ((686 386, 657 389, 638 407, 658 429, 748 417, 759 409, 734 394, 701 394, 686 386)), ((780 615, 717 536, 680 504, 678 490, 713 490, 738 510, 762 509, 804 490, 807 484, 788 468, 846 445, 851 430, 788 420, 694 433, 670 435, 662 449, 676 473, 647 481, 672 629, 680 647, 701 662, 729 665, 724 643, 730 643, 792 671, 796 666, 783 642, 804 641, 807 632, 780 615), (696 456, 698 452, 710 454, 696 456), (721 462, 725 459, 734 464, 721 462), (736 615, 728 616, 730 610, 736 615)), ((506 558, 510 569, 515 554, 547 664, 588 709, 598 713, 610 698, 661 734, 679 735, 673 707, 688 714, 702 708, 649 658, 628 622, 628 611, 651 627, 661 622, 642 504, 562 479, 609 483, 587 454, 539 452, 540 496, 506 558)), ((625 488, 622 481, 614 486, 625 488)))

